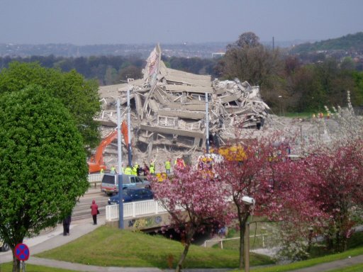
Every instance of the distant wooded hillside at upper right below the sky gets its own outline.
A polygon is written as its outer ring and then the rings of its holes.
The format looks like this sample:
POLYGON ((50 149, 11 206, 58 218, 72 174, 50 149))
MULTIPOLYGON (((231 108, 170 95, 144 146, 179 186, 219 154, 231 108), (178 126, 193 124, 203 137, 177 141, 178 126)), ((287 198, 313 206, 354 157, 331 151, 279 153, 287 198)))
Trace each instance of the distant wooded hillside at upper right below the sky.
POLYGON ((363 32, 348 34, 341 38, 321 40, 320 42, 303 43, 296 45, 290 52, 297 54, 303 52, 316 52, 321 50, 350 50, 363 51, 363 32))

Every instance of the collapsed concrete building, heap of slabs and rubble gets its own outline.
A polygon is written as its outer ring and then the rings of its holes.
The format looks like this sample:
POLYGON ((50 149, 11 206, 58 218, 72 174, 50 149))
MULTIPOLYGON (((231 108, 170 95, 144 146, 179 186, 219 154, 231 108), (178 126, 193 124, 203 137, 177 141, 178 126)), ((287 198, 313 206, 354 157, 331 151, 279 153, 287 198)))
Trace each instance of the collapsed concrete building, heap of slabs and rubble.
MULTIPOLYGON (((116 101, 121 102, 123 120, 130 110, 133 162, 161 164, 184 156, 193 163, 206 151, 207 140, 226 145, 235 137, 235 128, 264 124, 269 106, 262 101, 259 86, 170 69, 161 57, 157 45, 147 58, 143 79, 99 89, 103 109, 97 120, 103 137, 116 128, 116 101)), ((106 164, 116 164, 116 145, 105 153, 106 164)))

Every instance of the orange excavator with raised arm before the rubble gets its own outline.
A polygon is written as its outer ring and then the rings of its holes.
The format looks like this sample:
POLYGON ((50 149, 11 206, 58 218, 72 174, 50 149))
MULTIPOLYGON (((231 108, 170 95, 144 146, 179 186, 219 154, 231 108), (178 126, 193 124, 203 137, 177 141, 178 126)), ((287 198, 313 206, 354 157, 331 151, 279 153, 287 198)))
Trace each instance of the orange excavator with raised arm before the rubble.
MULTIPOLYGON (((121 133, 123 135, 123 140, 125 140, 126 146, 128 146, 128 125, 125 121, 121 124, 121 133)), ((104 165, 104 149, 111 144, 113 140, 117 138, 117 128, 113 130, 104 140, 101 141, 99 146, 96 149, 96 153, 91 156, 89 162, 87 162, 89 166, 89 174, 97 173, 101 171, 101 169, 106 170, 106 165, 104 165)))

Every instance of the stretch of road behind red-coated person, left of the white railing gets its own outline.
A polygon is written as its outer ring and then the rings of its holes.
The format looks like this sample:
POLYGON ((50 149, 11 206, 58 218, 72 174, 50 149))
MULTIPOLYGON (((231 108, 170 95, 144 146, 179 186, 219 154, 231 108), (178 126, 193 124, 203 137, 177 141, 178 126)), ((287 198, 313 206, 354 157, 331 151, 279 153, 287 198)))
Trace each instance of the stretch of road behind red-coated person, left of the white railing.
POLYGON ((91 209, 89 206, 91 206, 92 200, 96 200, 97 205, 99 205, 99 212, 101 215, 105 215, 108 196, 106 196, 105 193, 101 193, 101 189, 99 187, 89 188, 89 191, 87 191, 84 196, 79 199, 76 207, 74 207, 72 212, 72 222, 91 217, 91 209))

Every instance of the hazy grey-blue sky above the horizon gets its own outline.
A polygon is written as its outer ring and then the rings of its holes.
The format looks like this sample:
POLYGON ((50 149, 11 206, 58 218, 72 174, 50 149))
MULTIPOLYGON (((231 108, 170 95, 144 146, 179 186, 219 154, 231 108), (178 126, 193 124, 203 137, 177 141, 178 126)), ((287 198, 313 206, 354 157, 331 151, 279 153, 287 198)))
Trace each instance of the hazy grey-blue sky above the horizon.
POLYGON ((0 43, 315 41, 363 31, 363 0, 0 0, 0 43))

